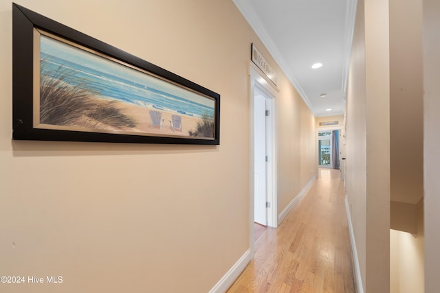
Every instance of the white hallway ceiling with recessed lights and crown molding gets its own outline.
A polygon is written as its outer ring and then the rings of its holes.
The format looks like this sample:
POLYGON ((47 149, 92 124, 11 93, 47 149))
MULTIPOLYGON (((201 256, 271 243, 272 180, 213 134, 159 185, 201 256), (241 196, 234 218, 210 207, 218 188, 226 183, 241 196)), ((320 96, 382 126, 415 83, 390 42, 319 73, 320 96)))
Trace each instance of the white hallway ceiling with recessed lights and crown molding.
POLYGON ((312 113, 342 115, 357 1, 232 1, 312 113))

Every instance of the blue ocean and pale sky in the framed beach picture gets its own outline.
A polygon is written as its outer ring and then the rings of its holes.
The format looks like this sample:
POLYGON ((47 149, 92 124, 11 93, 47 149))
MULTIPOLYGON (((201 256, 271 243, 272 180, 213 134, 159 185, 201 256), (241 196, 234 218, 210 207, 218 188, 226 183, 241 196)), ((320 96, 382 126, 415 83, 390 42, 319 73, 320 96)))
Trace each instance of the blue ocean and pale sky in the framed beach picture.
POLYGON ((41 35, 41 75, 82 86, 104 99, 170 113, 214 117, 214 99, 41 35))

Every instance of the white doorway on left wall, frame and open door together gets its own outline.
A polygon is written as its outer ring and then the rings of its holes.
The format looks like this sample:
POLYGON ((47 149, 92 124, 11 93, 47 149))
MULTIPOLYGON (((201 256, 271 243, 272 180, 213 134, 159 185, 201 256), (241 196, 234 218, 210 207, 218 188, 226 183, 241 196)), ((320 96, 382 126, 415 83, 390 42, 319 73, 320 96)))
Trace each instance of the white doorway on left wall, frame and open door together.
POLYGON ((249 64, 249 77, 251 125, 249 239, 253 253, 254 223, 273 228, 278 226, 276 98, 279 90, 268 78, 265 78, 253 62, 249 64), (269 116, 265 115, 265 110, 269 111, 269 116))

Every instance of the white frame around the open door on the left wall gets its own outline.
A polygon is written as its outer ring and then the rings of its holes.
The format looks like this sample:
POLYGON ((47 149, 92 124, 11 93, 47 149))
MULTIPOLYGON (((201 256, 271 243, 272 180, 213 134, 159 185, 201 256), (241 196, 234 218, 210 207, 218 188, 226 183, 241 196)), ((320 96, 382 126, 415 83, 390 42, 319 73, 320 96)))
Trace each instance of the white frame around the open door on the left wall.
POLYGON ((250 95, 250 246, 253 254, 254 250, 254 87, 257 86, 269 98, 272 104, 272 113, 269 116, 272 143, 268 149, 270 161, 267 163, 267 201, 270 208, 267 208, 267 226, 276 228, 278 226, 278 194, 277 194, 277 128, 276 128, 276 97, 279 90, 272 85, 272 82, 261 72, 261 70, 249 63, 249 95, 250 95))

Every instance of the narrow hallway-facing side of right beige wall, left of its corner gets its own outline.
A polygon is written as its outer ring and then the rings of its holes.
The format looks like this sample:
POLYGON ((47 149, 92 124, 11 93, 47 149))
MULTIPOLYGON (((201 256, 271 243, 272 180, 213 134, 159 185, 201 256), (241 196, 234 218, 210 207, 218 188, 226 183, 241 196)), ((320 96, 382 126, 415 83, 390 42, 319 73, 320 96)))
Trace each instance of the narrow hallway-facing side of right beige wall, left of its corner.
MULTIPOLYGON (((366 95, 365 95, 365 24, 364 1, 358 1, 353 47, 347 82, 346 104, 346 183, 360 278, 366 280, 366 95)), ((362 284, 359 284, 361 283, 362 284)), ((364 289, 365 290, 365 289, 364 289)))

